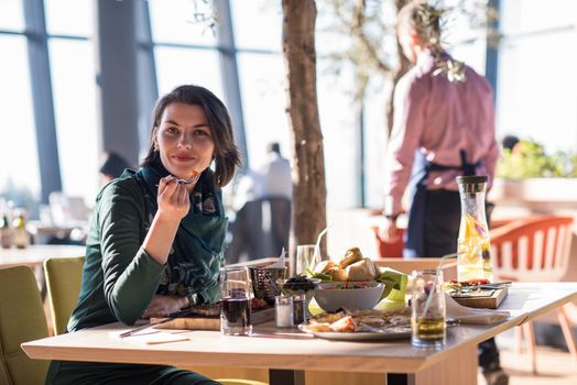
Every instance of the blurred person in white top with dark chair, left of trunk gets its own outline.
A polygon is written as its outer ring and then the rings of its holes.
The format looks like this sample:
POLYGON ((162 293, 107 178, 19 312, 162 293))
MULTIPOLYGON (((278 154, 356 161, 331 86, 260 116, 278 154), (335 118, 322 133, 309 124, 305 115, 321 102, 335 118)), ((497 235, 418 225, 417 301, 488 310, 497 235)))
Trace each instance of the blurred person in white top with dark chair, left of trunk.
POLYGON ((276 256, 283 248, 288 250, 291 164, 281 155, 279 143, 270 143, 266 151, 265 162, 248 170, 237 185, 227 263, 276 256))

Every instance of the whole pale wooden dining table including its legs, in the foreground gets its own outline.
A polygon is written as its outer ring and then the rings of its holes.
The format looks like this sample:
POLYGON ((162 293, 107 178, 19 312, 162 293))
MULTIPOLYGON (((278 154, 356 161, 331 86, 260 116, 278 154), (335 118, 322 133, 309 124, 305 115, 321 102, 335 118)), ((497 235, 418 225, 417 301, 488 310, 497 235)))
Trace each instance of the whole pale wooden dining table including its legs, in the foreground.
POLYGON ((194 367, 266 369, 270 384, 304 384, 306 371, 379 373, 384 384, 477 384, 477 344, 577 298, 577 283, 513 283, 499 310, 510 317, 496 324, 458 324, 446 344, 420 349, 409 338, 336 341, 255 324, 249 337, 207 330, 149 330, 129 338, 131 329, 110 323, 25 342, 31 359, 166 364, 194 367))

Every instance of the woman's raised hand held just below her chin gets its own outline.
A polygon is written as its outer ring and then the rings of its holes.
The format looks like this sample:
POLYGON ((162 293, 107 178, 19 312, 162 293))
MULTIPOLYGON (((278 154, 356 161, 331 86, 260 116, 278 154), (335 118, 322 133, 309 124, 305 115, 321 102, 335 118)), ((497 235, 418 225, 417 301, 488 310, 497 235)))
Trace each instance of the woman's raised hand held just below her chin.
POLYGON ((172 175, 165 176, 159 183, 159 205, 157 216, 165 218, 182 219, 190 209, 190 198, 185 185, 181 185, 178 179, 172 175))

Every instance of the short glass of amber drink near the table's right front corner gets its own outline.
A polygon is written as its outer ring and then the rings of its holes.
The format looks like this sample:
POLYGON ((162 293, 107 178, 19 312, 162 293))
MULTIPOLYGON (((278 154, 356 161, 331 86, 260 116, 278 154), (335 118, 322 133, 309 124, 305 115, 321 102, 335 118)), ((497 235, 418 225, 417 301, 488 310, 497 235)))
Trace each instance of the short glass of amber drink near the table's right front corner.
POLYGON ((446 329, 443 272, 422 270, 413 272, 411 328, 413 346, 440 348, 445 344, 446 329))

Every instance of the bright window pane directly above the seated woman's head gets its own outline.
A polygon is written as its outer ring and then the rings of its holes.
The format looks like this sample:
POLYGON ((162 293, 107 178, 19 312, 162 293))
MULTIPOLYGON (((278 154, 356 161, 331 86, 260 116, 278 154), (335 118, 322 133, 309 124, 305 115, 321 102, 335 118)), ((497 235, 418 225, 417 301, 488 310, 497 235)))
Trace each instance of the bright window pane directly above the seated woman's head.
POLYGON ((181 85, 194 84, 208 88, 225 100, 216 51, 156 47, 154 55, 159 95, 170 92, 181 85))

